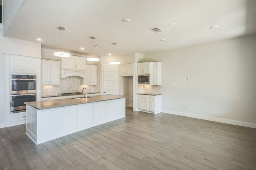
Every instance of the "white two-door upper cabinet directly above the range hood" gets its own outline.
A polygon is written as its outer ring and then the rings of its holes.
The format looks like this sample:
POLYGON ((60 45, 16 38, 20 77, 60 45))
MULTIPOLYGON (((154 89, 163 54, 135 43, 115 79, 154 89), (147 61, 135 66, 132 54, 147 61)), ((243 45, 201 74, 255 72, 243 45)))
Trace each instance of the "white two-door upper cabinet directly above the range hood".
POLYGON ((86 58, 85 57, 63 57, 62 67, 68 70, 86 70, 86 58))

